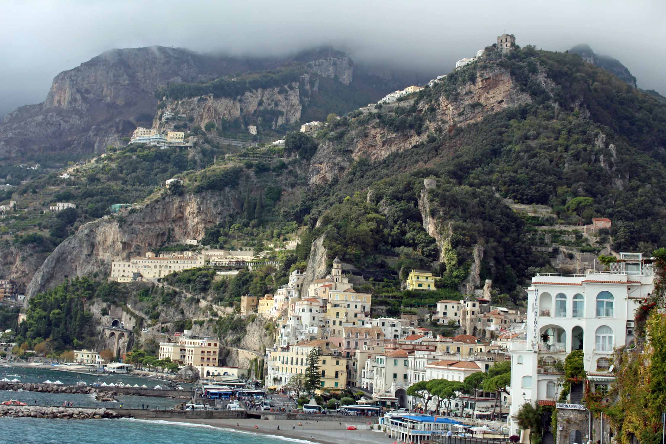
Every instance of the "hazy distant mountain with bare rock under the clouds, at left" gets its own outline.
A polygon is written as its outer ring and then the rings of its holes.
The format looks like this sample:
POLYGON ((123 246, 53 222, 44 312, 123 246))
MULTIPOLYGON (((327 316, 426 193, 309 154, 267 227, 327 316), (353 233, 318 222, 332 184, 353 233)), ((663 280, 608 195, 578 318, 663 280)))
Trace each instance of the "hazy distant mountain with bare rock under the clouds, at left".
MULTIPOLYGON (((109 145, 119 146, 137 126, 152 124, 157 89, 294 66, 352 85, 354 91, 370 89, 374 96, 398 83, 364 75, 362 70, 354 76, 351 59, 329 48, 264 58, 168 47, 113 49, 57 75, 43 103, 7 114, 0 123, 0 158, 44 160, 57 154, 60 160, 63 155, 74 160, 83 154, 100 154, 109 145)), ((346 103, 342 109, 355 106, 346 103)))

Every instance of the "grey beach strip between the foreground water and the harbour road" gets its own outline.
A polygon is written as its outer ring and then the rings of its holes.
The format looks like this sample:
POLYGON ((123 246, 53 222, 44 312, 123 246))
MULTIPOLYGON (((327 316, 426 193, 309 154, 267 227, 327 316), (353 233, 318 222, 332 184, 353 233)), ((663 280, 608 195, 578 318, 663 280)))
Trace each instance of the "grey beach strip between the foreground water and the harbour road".
POLYGON ((160 421, 172 421, 192 424, 206 424, 224 429, 235 429, 264 435, 281 436, 285 438, 304 439, 321 444, 390 444, 394 440, 384 437, 378 431, 348 431, 344 421, 288 421, 286 419, 266 421, 261 419, 166 419, 156 418, 160 421), (236 427, 238 423, 238 427, 236 427), (257 425, 259 428, 255 429, 257 425), (280 430, 278 430, 278 425, 280 430))

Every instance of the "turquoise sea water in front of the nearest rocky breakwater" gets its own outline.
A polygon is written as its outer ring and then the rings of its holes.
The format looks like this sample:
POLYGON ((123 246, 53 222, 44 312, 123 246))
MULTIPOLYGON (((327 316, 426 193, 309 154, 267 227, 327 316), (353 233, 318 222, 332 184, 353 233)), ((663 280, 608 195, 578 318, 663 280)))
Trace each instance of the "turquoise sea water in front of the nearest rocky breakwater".
POLYGON ((7 444, 310 444, 209 425, 140 419, 0 418, 0 442, 7 444))

